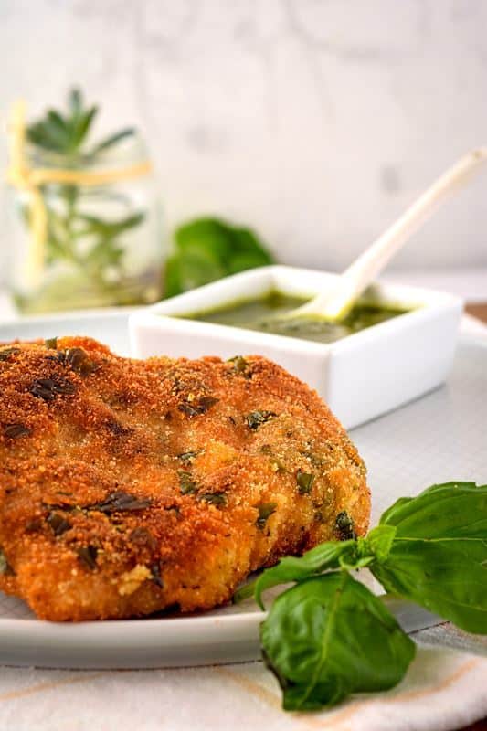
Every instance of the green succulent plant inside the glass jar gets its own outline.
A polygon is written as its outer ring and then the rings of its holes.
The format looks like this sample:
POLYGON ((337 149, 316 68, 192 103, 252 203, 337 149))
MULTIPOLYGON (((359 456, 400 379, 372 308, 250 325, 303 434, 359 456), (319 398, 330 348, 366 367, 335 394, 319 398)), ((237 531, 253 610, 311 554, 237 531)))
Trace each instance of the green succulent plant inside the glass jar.
MULTIPOLYGON (((49 109, 41 119, 27 126, 26 138, 35 145, 34 154, 43 155, 38 164, 83 170, 101 163, 104 154, 134 136, 135 130, 128 127, 91 143, 98 112, 98 106, 85 104, 80 90, 73 89, 66 110, 49 109)), ((55 196, 52 185, 43 185, 39 190, 47 214, 47 266, 56 262, 74 266, 101 294, 119 302, 120 281, 126 276, 122 237, 143 223, 145 213, 127 208, 122 217, 95 216, 93 200, 102 201, 106 195, 108 206, 112 207, 110 192, 91 192, 75 184, 56 184, 55 196)), ((30 226, 28 210, 24 211, 24 219, 30 226)))

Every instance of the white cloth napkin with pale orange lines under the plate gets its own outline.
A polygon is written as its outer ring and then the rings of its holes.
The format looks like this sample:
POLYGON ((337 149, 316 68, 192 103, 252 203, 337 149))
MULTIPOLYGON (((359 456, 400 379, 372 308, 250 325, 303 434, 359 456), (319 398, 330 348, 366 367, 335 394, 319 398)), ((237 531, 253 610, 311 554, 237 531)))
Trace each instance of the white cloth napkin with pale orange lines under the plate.
POLYGON ((260 662, 151 671, 0 672, 0 727, 12 731, 448 731, 487 714, 487 659, 421 648, 384 694, 290 714, 260 662))

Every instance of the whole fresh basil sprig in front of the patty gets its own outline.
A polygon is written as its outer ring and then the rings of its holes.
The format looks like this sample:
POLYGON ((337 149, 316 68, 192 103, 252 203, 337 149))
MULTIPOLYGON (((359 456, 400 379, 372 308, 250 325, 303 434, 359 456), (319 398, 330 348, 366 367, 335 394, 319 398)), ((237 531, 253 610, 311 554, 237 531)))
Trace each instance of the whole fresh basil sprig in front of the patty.
POLYGON ((334 705, 396 685, 415 645, 380 598, 350 570, 367 567, 386 588, 463 630, 487 634, 487 485, 448 482, 401 498, 365 538, 286 557, 236 599, 294 582, 262 622, 262 654, 286 710, 334 705))

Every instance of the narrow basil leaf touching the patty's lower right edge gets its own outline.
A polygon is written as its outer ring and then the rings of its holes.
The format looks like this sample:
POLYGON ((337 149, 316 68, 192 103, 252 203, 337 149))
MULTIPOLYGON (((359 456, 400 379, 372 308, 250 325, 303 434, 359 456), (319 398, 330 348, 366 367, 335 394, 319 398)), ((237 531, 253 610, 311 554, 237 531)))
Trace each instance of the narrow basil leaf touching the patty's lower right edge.
POLYGON ((362 540, 322 543, 301 558, 296 556, 281 558, 279 564, 267 568, 253 582, 239 589, 234 601, 249 599, 254 594, 260 609, 264 609, 262 594, 269 588, 289 584, 291 581, 303 581, 331 569, 364 567, 373 560, 374 555, 362 540))

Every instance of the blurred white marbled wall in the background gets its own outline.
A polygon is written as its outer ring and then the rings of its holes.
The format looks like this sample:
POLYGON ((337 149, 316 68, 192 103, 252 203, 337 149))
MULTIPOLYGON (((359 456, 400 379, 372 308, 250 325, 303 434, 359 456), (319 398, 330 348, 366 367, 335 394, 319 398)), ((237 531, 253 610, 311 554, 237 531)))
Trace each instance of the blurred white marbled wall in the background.
MULTIPOLYGON (((484 0, 0 0, 0 111, 78 83, 142 125, 171 224, 338 269, 487 143, 486 28, 484 0)), ((487 174, 395 267, 487 266, 486 241, 487 174)))

